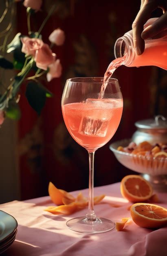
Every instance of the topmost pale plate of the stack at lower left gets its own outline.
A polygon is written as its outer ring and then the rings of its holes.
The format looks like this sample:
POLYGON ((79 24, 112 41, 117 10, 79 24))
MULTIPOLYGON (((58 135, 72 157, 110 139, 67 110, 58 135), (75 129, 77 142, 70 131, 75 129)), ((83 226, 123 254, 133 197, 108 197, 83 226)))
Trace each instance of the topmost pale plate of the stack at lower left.
POLYGON ((0 210, 0 243, 11 236, 17 227, 17 220, 10 214, 0 210))

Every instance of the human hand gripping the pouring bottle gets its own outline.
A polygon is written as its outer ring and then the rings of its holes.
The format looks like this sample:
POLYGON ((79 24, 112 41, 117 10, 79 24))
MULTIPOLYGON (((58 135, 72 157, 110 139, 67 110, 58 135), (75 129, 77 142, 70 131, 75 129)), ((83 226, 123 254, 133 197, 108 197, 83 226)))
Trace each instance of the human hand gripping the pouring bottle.
POLYGON ((141 0, 141 9, 132 24, 132 30, 135 52, 137 55, 141 55, 145 49, 145 39, 158 37, 163 30, 167 34, 167 0, 141 0), (163 9, 163 15, 144 28, 152 11, 158 7, 163 9))

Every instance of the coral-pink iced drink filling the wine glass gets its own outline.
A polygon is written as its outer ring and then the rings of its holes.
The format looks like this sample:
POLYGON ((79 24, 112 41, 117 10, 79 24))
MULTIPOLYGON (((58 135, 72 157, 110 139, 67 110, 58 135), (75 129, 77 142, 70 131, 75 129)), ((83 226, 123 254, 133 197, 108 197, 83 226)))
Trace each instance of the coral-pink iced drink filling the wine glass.
POLYGON ((122 99, 89 99, 88 103, 69 103, 62 106, 64 122, 70 135, 88 150, 102 147, 113 137, 122 111, 122 99))

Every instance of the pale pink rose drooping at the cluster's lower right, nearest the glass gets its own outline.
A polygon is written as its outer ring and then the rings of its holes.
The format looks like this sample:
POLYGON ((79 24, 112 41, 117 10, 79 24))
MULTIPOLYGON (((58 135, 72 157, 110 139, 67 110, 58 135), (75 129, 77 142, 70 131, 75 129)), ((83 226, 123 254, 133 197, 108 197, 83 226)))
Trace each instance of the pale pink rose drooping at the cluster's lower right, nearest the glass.
POLYGON ((54 63, 49 65, 49 72, 46 74, 46 78, 48 82, 50 82, 53 78, 59 77, 62 74, 62 65, 60 60, 57 59, 54 63))

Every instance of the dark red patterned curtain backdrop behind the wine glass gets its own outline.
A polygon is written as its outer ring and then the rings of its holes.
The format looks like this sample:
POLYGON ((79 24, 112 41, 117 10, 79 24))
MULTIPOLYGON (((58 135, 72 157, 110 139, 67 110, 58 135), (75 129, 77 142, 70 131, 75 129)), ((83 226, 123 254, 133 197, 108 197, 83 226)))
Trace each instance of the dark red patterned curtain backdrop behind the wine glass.
MULTIPOLYGON (((37 30, 54 0, 43 1, 42 11, 31 18, 32 29, 37 30)), ((19 121, 19 153, 22 199, 47 195, 48 182, 58 188, 74 191, 88 187, 88 153, 68 134, 64 125, 61 97, 67 78, 76 76, 103 76, 114 58, 116 39, 131 29, 140 7, 140 1, 64 0, 42 30, 42 39, 57 27, 64 30, 66 41, 53 52, 63 66, 63 74, 44 85, 54 97, 46 100, 38 117, 29 106, 22 86, 19 121)), ((18 3, 17 30, 28 35, 26 9, 18 3)), ((130 138, 136 130, 134 122, 155 114, 155 67, 130 68, 122 66, 114 73, 119 79, 124 99, 123 116, 112 140, 95 154, 95 186, 120 181, 129 173, 109 149, 111 142, 130 138), (154 80, 154 81, 153 81, 154 80)), ((161 108, 161 113, 164 106, 161 108)), ((158 109, 157 109, 158 111, 158 109)))

